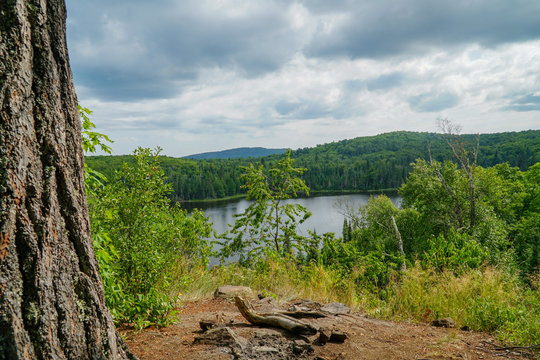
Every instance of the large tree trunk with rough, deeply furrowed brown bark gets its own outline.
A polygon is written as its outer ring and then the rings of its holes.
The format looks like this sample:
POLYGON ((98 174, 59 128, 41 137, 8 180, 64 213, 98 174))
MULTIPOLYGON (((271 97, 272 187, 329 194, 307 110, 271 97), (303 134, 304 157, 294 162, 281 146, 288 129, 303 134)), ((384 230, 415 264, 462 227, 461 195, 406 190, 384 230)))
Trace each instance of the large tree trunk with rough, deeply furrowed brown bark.
POLYGON ((90 239, 64 0, 0 1, 0 359, 127 358, 90 239))

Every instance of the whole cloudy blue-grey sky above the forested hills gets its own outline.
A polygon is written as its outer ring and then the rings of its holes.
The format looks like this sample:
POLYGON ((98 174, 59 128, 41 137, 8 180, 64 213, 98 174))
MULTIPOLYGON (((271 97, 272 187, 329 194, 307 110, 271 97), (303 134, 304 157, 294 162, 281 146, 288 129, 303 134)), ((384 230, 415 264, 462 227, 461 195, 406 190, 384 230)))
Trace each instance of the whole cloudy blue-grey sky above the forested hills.
POLYGON ((69 0, 79 102, 116 154, 540 128, 538 0, 69 0))

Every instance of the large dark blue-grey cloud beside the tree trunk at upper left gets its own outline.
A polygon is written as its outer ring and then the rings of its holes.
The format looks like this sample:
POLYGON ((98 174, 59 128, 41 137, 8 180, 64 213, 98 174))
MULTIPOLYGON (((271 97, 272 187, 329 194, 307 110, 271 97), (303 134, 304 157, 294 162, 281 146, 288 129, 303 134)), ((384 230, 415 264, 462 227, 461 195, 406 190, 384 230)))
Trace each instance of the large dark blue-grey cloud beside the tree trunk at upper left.
POLYGON ((262 75, 299 46, 277 6, 232 16, 197 1, 68 5, 75 81, 102 99, 171 97, 205 67, 262 75))

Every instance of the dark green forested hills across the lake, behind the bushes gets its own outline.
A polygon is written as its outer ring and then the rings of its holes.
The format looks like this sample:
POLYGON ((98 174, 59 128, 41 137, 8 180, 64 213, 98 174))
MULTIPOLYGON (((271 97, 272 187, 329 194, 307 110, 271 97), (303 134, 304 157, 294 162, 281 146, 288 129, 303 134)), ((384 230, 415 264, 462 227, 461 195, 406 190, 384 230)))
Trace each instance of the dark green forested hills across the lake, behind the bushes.
MULTIPOLYGON (((476 135, 462 140, 476 143, 476 135)), ((482 134, 478 164, 484 167, 508 162, 521 170, 540 159, 540 130, 482 134)), ((391 132, 359 137, 292 152, 295 166, 308 169, 304 179, 312 191, 364 191, 401 186, 417 158, 451 159, 440 134, 391 132)), ((269 166, 281 155, 249 159, 193 160, 162 157, 162 166, 174 188, 175 200, 212 199, 242 193, 240 166, 251 162, 269 166)), ((111 176, 130 156, 91 156, 93 169, 111 176)))

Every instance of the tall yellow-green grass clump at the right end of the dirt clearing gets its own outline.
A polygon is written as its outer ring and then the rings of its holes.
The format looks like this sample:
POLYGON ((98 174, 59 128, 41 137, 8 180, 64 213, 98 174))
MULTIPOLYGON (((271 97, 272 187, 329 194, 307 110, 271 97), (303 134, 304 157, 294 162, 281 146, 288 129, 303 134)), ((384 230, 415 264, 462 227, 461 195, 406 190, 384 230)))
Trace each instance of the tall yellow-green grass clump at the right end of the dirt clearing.
POLYGON ((391 285, 391 294, 377 309, 389 319, 451 317, 458 327, 495 333, 508 342, 540 342, 540 291, 525 289, 517 277, 497 268, 455 276, 416 265, 391 285))

